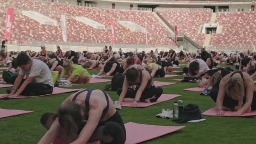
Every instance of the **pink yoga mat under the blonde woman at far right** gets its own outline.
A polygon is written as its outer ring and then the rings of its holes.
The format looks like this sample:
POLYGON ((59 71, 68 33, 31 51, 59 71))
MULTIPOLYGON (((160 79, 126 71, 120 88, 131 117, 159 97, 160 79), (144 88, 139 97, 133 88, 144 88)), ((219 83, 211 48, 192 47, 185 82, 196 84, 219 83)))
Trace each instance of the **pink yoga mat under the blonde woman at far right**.
MULTIPOLYGON (((208 109, 203 115, 209 115, 209 116, 219 116, 217 115, 218 109, 216 107, 213 107, 211 109, 208 109)), ((252 110, 251 112, 244 113, 243 115, 233 115, 232 111, 225 111, 223 117, 250 117, 256 115, 256 110, 252 110)))

